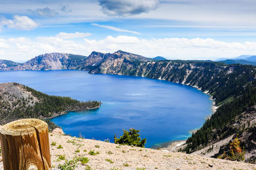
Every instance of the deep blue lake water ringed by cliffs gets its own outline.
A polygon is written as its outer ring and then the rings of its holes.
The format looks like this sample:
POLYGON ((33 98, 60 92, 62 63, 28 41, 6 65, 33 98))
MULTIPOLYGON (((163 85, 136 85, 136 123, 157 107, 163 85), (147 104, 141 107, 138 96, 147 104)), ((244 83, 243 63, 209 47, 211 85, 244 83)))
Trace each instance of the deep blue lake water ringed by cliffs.
POLYGON ((87 71, 6 71, 1 82, 17 82, 49 95, 102 102, 97 110, 69 112, 52 119, 65 134, 110 139, 122 129, 139 129, 146 147, 186 139, 211 115, 209 96, 193 87, 134 76, 87 71))

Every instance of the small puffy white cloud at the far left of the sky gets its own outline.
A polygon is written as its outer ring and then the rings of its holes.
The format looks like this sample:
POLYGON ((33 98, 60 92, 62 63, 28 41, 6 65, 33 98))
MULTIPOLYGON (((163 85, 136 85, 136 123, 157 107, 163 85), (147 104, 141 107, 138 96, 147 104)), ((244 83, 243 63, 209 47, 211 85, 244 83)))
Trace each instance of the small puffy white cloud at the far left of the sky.
POLYGON ((0 26, 29 31, 38 27, 38 24, 27 16, 14 15, 13 20, 2 18, 0 26))

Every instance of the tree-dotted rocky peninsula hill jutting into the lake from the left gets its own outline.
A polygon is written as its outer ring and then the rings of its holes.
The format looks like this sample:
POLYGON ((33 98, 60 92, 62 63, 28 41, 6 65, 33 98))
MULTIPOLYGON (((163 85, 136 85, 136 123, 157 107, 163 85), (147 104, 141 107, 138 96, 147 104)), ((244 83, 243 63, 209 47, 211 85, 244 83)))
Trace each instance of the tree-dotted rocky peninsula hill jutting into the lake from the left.
POLYGON ((0 83, 0 124, 19 118, 47 119, 99 106, 97 101, 80 102, 70 97, 49 96, 19 83, 0 83))

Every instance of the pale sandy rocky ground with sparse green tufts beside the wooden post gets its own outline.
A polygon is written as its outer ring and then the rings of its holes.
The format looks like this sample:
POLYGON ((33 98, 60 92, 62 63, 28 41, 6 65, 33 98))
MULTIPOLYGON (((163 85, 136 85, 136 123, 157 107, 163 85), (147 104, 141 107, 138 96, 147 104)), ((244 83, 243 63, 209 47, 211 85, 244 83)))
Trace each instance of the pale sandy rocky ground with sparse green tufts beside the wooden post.
POLYGON ((75 169, 256 169, 256 165, 243 162, 74 138, 60 130, 50 133, 49 140, 52 169, 76 158, 75 169), (80 161, 83 157, 88 158, 84 165, 80 161))

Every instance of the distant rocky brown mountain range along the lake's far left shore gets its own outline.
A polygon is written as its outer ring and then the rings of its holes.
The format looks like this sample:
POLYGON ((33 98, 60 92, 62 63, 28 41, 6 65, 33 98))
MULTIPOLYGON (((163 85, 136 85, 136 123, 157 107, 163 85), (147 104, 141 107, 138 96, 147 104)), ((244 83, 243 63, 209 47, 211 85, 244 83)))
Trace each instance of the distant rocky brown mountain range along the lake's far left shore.
MULTIPOLYGON (((88 57, 83 55, 74 55, 70 53, 45 53, 28 60, 23 64, 1 64, 0 71, 17 70, 56 70, 56 69, 82 69, 88 70, 92 66, 97 66, 108 60, 118 59, 118 62, 145 62, 152 59, 136 55, 133 53, 118 50, 115 53, 92 52, 88 57)), ((118 64, 118 63, 117 63, 118 64)))

